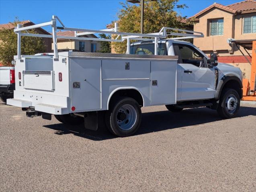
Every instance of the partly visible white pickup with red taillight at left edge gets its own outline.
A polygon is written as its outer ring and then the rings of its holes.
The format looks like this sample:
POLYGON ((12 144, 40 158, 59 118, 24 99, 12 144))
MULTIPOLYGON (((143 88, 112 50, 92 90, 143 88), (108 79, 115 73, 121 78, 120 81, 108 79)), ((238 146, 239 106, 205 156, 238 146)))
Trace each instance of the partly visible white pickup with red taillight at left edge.
POLYGON ((15 90, 14 67, 0 67, 0 99, 6 103, 8 98, 13 98, 15 90))

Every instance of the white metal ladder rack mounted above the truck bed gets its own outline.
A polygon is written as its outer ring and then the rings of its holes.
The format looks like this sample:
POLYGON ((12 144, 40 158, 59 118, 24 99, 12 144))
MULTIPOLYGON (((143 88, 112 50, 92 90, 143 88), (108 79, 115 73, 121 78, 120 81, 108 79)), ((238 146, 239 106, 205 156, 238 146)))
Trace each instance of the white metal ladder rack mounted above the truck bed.
POLYGON ((21 24, 17 24, 17 27, 14 29, 14 32, 18 35, 18 44, 17 44, 17 55, 18 59, 21 58, 21 36, 32 36, 32 37, 43 37, 43 38, 53 38, 53 59, 58 60, 58 49, 57 49, 57 39, 74 39, 74 40, 96 40, 96 41, 108 41, 108 42, 124 42, 127 40, 127 54, 130 54, 130 40, 154 40, 155 44, 155 55, 158 54, 157 48, 158 48, 158 40, 159 39, 172 39, 172 40, 180 40, 180 39, 188 39, 188 38, 200 38, 204 37, 203 33, 201 32, 195 32, 190 30, 183 30, 183 29, 176 29, 176 28, 170 28, 170 27, 163 27, 160 32, 158 33, 150 33, 150 34, 140 34, 140 33, 128 33, 128 32, 119 32, 117 23, 115 23, 114 28, 110 29, 103 29, 103 30, 90 30, 90 29, 81 29, 81 28, 68 28, 65 27, 64 24, 61 22, 61 20, 57 16, 52 16, 51 21, 41 23, 41 24, 35 24, 27 27, 22 27, 21 24), (62 25, 61 27, 57 26, 57 20, 62 25), (46 35, 46 34, 32 34, 29 33, 27 30, 40 28, 44 26, 51 26, 52 28, 52 35, 46 35), (57 30, 70 30, 75 32, 75 36, 58 36, 57 30), (167 32, 167 30, 173 30, 178 32, 167 32), (23 31, 26 31, 27 33, 24 33, 23 31), (79 31, 79 32, 78 32, 79 31), (182 33, 186 32, 186 33, 182 33), (103 34, 114 34, 117 35, 117 38, 115 39, 107 39, 107 38, 89 38, 89 37, 80 37, 83 35, 89 35, 89 34, 97 34, 97 33, 103 33, 103 34), (189 34, 188 34, 189 33, 189 34), (168 36, 181 36, 177 38, 167 38, 168 36))

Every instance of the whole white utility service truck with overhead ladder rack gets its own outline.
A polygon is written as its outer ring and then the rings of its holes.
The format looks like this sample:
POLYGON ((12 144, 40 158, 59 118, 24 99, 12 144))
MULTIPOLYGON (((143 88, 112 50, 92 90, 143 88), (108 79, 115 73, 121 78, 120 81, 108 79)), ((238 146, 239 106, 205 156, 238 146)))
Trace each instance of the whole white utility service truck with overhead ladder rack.
POLYGON ((135 34, 117 29, 116 24, 105 30, 67 28, 57 16, 34 26, 18 24, 14 29, 18 54, 13 61, 18 78, 14 98, 7 104, 26 110, 29 117, 51 120, 53 114, 62 123, 84 123, 92 130, 104 121, 110 132, 121 137, 137 131, 145 106, 166 105, 172 112, 206 106, 223 118, 237 114, 241 70, 218 63, 216 54, 209 58, 193 44, 180 41, 203 37, 201 32, 163 27, 158 33, 135 34), (56 26, 57 21, 61 27, 56 26), (47 25, 51 25, 52 35, 23 32, 47 25), (57 29, 75 31, 75 37, 57 36, 57 29), (58 53, 58 38, 95 40, 80 37, 95 33, 117 35, 96 40, 127 41, 127 54, 58 53), (169 35, 178 37, 168 39, 169 35), (21 36, 53 38, 54 53, 21 55, 21 36))

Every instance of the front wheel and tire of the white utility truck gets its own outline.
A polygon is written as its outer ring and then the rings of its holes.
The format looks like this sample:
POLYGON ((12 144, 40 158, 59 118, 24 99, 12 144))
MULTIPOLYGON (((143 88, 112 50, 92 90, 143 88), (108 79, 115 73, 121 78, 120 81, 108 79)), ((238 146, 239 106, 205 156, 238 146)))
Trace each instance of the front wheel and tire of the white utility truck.
POLYGON ((240 97, 233 89, 224 89, 221 92, 217 112, 225 119, 233 118, 240 108, 240 97))

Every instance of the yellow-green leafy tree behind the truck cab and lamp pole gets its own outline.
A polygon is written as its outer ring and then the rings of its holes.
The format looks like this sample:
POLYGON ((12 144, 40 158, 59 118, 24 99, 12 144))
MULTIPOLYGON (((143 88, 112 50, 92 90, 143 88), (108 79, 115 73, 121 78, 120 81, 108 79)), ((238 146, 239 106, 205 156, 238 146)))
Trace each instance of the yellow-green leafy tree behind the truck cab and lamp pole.
MULTIPOLYGON (((185 4, 178 4, 179 0, 145 1, 144 5, 144 33, 154 33, 162 27, 186 29, 188 23, 180 20, 186 18, 179 16, 174 9, 183 9, 185 4)), ((121 3, 122 9, 117 13, 120 32, 140 33, 140 6, 131 3, 121 3)), ((113 36, 115 38, 115 36, 113 36)), ((126 42, 113 42, 117 53, 126 52, 126 42)))

